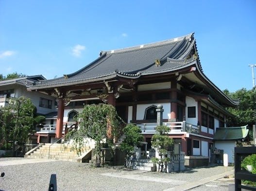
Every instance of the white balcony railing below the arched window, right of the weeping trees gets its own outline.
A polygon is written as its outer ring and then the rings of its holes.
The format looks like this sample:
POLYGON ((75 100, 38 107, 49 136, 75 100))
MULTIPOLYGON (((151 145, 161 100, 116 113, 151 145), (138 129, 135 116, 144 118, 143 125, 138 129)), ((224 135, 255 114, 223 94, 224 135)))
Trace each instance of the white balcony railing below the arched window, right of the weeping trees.
MULTIPOLYGON (((155 131, 157 126, 156 123, 137 123, 136 125, 140 128, 142 134, 156 132, 155 131)), ((169 133, 189 132, 189 133, 198 134, 200 132, 198 126, 189 124, 186 121, 163 122, 163 125, 166 125, 167 127, 170 128, 169 133)))

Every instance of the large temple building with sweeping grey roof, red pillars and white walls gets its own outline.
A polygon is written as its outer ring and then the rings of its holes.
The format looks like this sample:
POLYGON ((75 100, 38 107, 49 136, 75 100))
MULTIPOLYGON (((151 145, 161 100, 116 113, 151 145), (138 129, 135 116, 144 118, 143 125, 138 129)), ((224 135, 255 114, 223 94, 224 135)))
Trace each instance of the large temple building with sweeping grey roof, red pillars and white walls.
POLYGON ((203 72, 193 33, 101 51, 99 58, 81 70, 41 80, 28 90, 57 98, 56 138, 65 133, 63 125, 69 115, 72 118, 84 104, 108 103, 125 122, 141 128, 148 149, 155 133, 155 109, 162 104, 169 136, 181 145, 185 161, 192 166, 197 159, 209 162, 214 134, 226 127, 227 117, 232 117, 224 108, 237 105, 203 72))

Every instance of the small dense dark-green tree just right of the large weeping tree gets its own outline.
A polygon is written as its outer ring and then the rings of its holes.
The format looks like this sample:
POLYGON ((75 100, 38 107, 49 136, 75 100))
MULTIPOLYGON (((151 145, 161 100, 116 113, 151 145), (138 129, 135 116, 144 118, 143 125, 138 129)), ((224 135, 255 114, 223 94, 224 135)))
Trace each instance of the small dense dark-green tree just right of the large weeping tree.
POLYGON ((138 145, 139 141, 143 140, 141 130, 139 127, 133 124, 128 124, 123 129, 125 139, 120 144, 120 149, 126 152, 125 167, 131 167, 131 156, 134 154, 134 147, 138 145))

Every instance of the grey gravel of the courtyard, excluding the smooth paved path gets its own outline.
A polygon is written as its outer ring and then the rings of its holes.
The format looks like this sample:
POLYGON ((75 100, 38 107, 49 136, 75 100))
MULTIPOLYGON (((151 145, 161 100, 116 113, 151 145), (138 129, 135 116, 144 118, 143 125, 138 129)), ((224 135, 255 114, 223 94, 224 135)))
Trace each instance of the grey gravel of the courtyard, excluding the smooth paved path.
MULTIPOLYGON (((6 160, 17 160, 17 158, 0 158, 0 162, 6 160)), ((5 176, 0 178, 0 191, 46 191, 49 187, 51 174, 56 174, 58 191, 162 191, 174 186, 171 183, 101 175, 103 173, 130 173, 121 167, 95 168, 88 163, 65 161, 0 166, 0 172, 5 172, 5 176)), ((140 173, 140 171, 132 171, 131 173, 139 173, 140 176, 150 176, 153 179, 159 177, 193 181, 222 172, 224 172, 224 168, 217 166, 171 174, 140 173)))

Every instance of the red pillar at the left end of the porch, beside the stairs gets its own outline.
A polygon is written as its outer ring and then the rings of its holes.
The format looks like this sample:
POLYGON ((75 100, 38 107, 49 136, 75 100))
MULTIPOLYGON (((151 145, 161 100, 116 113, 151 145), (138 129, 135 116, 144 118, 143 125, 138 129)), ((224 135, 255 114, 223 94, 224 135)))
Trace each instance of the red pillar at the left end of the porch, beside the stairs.
POLYGON ((57 117, 56 132, 55 132, 55 138, 58 138, 58 139, 62 137, 63 116, 64 116, 64 100, 62 98, 59 98, 58 117, 57 117))

